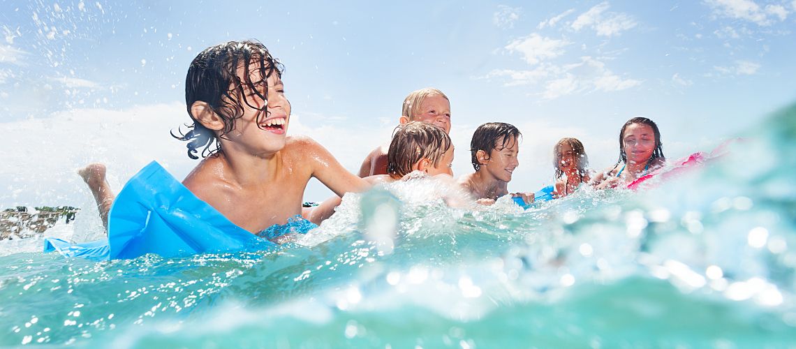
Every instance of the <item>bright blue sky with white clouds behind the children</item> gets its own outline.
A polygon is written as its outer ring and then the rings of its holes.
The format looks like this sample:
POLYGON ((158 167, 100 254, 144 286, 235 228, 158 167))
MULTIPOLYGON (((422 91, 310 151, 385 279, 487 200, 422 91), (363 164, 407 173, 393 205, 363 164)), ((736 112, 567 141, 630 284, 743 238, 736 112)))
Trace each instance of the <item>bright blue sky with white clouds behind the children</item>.
POLYGON ((655 120, 679 157, 792 103, 794 22, 793 0, 0 2, 0 131, 24 149, 0 170, 0 204, 74 200, 86 161, 108 162, 119 185, 153 159, 185 176, 195 163, 168 132, 188 121, 190 60, 221 41, 270 48, 287 68, 289 132, 352 171, 409 91, 437 87, 455 173, 471 169, 475 127, 509 122, 525 134, 510 188, 535 191, 560 137, 581 138, 601 169, 628 118, 655 120))

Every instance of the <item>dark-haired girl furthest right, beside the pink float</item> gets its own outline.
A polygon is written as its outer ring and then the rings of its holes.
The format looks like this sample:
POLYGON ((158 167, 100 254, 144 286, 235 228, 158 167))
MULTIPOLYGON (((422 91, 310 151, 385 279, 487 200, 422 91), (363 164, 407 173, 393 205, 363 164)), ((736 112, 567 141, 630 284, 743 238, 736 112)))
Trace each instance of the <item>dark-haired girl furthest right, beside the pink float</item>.
POLYGON ((661 131, 649 118, 631 118, 619 131, 619 159, 616 164, 595 176, 597 189, 629 184, 665 164, 661 131), (621 167, 619 165, 622 165, 621 167))

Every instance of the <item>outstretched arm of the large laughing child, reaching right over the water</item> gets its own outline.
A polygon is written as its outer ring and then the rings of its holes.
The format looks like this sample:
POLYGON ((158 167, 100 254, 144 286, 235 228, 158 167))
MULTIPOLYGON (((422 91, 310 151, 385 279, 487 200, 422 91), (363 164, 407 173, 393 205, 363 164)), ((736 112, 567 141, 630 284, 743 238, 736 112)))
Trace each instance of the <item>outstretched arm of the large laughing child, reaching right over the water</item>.
POLYGON ((302 138, 298 142, 299 151, 310 162, 312 176, 338 196, 343 196, 346 192, 365 192, 371 187, 368 181, 349 173, 323 145, 311 138, 302 138))

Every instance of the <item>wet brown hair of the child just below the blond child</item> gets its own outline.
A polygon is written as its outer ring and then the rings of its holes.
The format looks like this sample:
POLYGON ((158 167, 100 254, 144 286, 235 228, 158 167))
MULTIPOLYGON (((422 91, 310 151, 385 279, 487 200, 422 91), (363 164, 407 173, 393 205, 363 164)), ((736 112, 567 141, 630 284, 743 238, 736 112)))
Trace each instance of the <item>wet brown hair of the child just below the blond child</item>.
POLYGON ((392 133, 387 174, 396 179, 406 176, 423 158, 437 166, 452 145, 451 137, 437 126, 419 121, 401 124, 392 133))

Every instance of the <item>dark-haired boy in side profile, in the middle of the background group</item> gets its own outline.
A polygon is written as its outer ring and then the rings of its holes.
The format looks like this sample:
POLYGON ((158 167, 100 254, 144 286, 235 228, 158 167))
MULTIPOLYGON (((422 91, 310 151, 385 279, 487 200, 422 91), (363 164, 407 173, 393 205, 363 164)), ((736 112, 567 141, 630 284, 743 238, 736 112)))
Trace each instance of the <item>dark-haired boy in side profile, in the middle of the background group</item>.
MULTIPOLYGON (((494 204, 509 194, 508 184, 517 168, 517 153, 522 134, 517 127, 505 122, 488 122, 478 126, 470 142, 470 156, 475 173, 459 177, 465 188, 479 204, 494 204)), ((525 204, 533 202, 531 193, 514 193, 525 204)))

